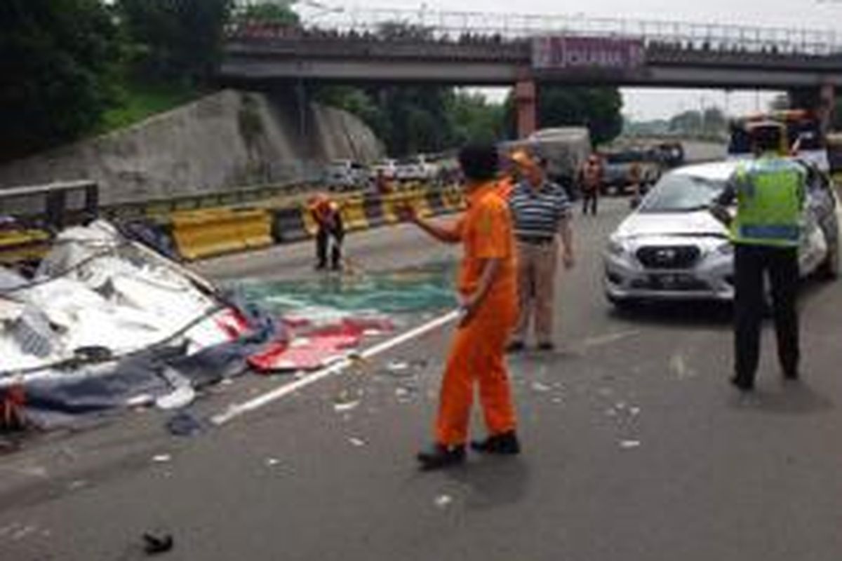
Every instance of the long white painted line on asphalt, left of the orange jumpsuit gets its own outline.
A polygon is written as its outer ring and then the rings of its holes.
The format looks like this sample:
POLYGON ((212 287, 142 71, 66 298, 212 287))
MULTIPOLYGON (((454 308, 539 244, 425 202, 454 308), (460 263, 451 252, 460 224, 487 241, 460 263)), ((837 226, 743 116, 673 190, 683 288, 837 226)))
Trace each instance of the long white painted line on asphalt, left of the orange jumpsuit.
POLYGON ((244 413, 248 413, 249 411, 253 410, 258 410, 261 407, 264 407, 265 405, 269 405, 274 401, 280 400, 286 395, 292 394, 300 389, 306 388, 309 385, 315 384, 319 380, 329 378, 335 374, 341 373, 346 368, 354 364, 354 362, 359 358, 365 359, 376 357, 382 352, 386 352, 394 347, 397 347, 398 345, 402 345, 407 341, 411 341, 416 337, 422 336, 425 333, 429 333, 429 331, 434 331, 444 325, 447 325, 451 321, 458 319, 459 316, 459 310, 452 310, 445 315, 440 315, 434 320, 429 320, 423 325, 418 325, 418 327, 415 327, 414 329, 406 331, 401 335, 392 337, 392 339, 382 341, 376 344, 374 347, 365 349, 365 351, 360 352, 359 354, 344 357, 338 362, 333 363, 328 367, 322 368, 321 370, 317 370, 309 376, 306 376, 306 378, 301 378, 300 380, 296 380, 295 382, 291 382, 290 384, 282 385, 279 388, 275 388, 265 394, 258 395, 258 397, 254 398, 253 400, 248 400, 241 404, 232 405, 223 413, 211 417, 210 421, 217 426, 224 425, 226 422, 231 421, 232 419, 243 415, 244 413))

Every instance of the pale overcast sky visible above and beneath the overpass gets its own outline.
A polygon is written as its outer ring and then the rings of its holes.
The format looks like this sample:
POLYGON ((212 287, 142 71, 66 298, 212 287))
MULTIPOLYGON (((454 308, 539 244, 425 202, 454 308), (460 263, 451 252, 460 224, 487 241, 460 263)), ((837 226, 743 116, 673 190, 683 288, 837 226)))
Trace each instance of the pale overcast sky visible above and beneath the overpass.
MULTIPOLYGON (((304 0, 306 3, 308 0, 304 0)), ((315 0, 309 0, 314 3, 315 0)), ((658 19, 700 24, 775 26, 837 31, 842 42, 842 0, 318 0, 328 7, 424 8, 428 11, 575 15, 585 18, 658 19), (567 8, 565 8, 567 6, 567 8)), ((482 88, 498 99, 504 90, 482 88)), ((623 113, 633 119, 669 118, 684 109, 717 106, 729 114, 765 109, 774 92, 623 88, 623 113)))

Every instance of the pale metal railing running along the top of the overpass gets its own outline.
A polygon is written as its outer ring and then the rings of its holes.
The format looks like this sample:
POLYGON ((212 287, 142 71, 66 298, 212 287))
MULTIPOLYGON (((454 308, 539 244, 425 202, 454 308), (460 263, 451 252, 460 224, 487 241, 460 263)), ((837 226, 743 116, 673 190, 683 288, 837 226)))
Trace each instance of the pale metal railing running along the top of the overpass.
MULTIPOLYGON (((241 0, 240 8, 246 5, 248 0, 241 0)), ((313 32, 379 37, 387 30, 392 40, 400 38, 401 33, 414 40, 459 40, 466 36, 524 40, 541 34, 566 34, 635 38, 647 43, 682 45, 688 49, 771 50, 810 56, 828 56, 842 51, 842 45, 839 45, 842 37, 837 37, 834 30, 581 15, 331 8, 303 19, 302 27, 313 32)))

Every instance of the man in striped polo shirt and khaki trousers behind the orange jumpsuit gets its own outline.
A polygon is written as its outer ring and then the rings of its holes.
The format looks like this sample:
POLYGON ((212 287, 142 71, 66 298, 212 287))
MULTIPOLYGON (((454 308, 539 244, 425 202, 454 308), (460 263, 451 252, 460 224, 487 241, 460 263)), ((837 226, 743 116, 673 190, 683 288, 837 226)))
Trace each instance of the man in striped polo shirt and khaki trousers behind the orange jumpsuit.
POLYGON ((543 162, 523 153, 513 157, 523 179, 509 195, 518 246, 520 317, 509 352, 525 347, 530 324, 535 320, 538 349, 552 351, 552 303, 558 262, 558 239, 562 242, 565 268, 573 267, 573 232, 570 199, 562 187, 547 180, 543 162))

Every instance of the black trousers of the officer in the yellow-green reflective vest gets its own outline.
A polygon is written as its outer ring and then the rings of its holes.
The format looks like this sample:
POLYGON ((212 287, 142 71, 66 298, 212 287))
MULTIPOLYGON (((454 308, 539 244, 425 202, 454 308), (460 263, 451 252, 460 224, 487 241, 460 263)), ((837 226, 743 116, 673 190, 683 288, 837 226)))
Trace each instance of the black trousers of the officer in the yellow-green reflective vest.
POLYGON ((765 310, 768 273, 778 359, 785 374, 798 372, 798 253, 795 247, 735 244, 734 356, 737 378, 753 382, 760 353, 760 325, 765 310))

